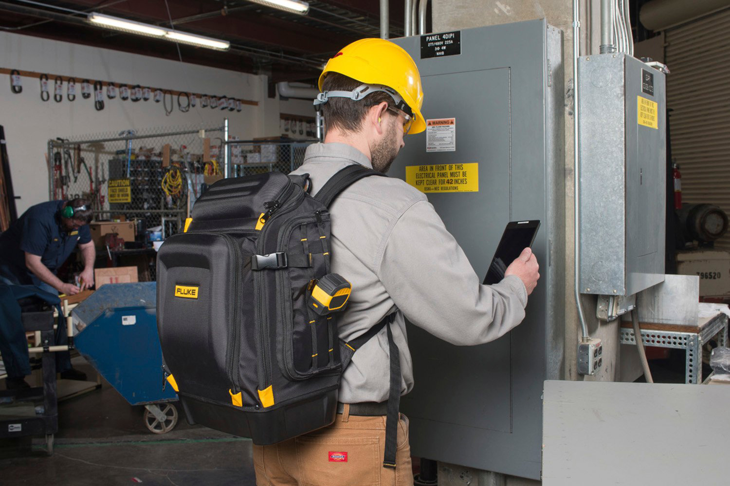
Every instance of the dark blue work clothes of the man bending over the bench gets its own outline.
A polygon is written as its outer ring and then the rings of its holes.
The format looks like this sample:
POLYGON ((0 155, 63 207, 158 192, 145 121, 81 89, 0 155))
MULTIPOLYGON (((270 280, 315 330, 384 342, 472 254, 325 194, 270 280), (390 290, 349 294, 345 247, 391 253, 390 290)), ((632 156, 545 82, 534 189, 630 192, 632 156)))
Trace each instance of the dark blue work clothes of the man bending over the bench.
MULTIPOLYGON (((34 285, 42 291, 58 295, 58 291, 28 270, 26 251, 40 256, 48 270, 55 273, 77 245, 91 241, 88 224, 77 231, 66 232, 61 225, 61 208, 64 204, 65 201, 49 201, 31 206, 0 235, 0 282, 34 285)), ((7 317, 7 314, 4 315, 7 317)), ((56 345, 68 342, 65 322, 61 322, 63 324, 58 326, 55 334, 56 345)), ((0 318, 0 353, 8 377, 30 375, 27 343, 23 324, 19 320, 0 318)), ((70 368, 69 353, 56 353, 56 371, 63 372, 70 368)))

